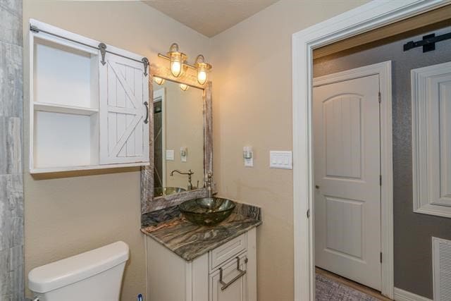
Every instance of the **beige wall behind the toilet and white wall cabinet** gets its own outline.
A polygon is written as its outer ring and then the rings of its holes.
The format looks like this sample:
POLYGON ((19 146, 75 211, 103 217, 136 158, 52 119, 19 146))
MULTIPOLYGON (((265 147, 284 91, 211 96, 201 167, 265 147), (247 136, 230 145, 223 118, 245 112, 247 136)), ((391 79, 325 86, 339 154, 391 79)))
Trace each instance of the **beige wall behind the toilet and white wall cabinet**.
MULTIPOLYGON (((157 52, 166 52, 175 41, 190 59, 199 53, 208 57, 206 37, 141 2, 25 0, 23 17, 25 54, 27 20, 35 18, 142 54, 151 61, 156 59, 157 52)), ((27 61, 24 73, 27 120, 27 61)), ((28 145, 25 145, 27 157, 28 145)), ((25 166, 28 166, 27 159, 25 166)), ((122 299, 136 300, 137 294, 146 290, 139 169, 51 179, 34 179, 25 173, 26 274, 35 266, 117 240, 127 242, 131 254, 125 269, 122 299)))

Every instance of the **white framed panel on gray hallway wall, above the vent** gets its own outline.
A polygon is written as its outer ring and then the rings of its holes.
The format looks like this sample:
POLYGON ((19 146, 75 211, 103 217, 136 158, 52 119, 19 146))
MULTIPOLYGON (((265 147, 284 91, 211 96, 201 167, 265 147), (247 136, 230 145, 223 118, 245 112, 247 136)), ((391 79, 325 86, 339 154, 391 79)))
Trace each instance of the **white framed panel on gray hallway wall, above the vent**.
POLYGON ((411 71, 414 212, 451 217, 451 62, 411 71))

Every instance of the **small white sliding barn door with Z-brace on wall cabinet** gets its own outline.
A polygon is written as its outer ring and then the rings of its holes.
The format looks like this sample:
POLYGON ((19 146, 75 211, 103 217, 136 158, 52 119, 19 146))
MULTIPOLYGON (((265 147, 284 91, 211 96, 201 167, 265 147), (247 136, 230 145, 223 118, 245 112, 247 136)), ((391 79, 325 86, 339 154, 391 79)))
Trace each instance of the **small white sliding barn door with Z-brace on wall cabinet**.
POLYGON ((149 75, 137 61, 106 53, 100 63, 100 163, 149 161, 149 75))

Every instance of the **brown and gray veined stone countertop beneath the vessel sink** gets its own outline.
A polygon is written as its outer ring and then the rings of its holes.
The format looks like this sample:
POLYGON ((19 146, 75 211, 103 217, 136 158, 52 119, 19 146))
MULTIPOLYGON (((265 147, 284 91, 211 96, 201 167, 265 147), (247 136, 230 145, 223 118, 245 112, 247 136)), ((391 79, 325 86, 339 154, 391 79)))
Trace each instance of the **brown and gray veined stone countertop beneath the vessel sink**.
POLYGON ((173 206, 142 214, 141 231, 191 261, 261 223, 261 209, 248 204, 236 203, 228 219, 216 226, 197 226, 173 206))

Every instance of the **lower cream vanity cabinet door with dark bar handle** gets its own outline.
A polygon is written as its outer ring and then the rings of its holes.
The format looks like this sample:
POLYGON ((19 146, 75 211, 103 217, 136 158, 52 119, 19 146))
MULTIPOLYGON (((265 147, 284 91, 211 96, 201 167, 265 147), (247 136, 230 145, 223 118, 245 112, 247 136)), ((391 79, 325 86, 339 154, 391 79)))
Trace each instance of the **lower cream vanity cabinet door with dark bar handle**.
POLYGON ((240 259, 240 270, 237 269, 237 258, 230 260, 218 266, 209 276, 210 297, 209 301, 247 301, 248 289, 247 278, 248 274, 242 271, 247 271, 247 252, 238 256, 240 259), (220 269, 223 270, 221 283, 220 269), (240 276, 242 275, 242 276, 240 276), (239 278, 237 278, 240 276, 239 278), (235 280, 235 281, 234 281, 235 280), (223 287, 224 283, 230 283, 227 288, 223 287))

